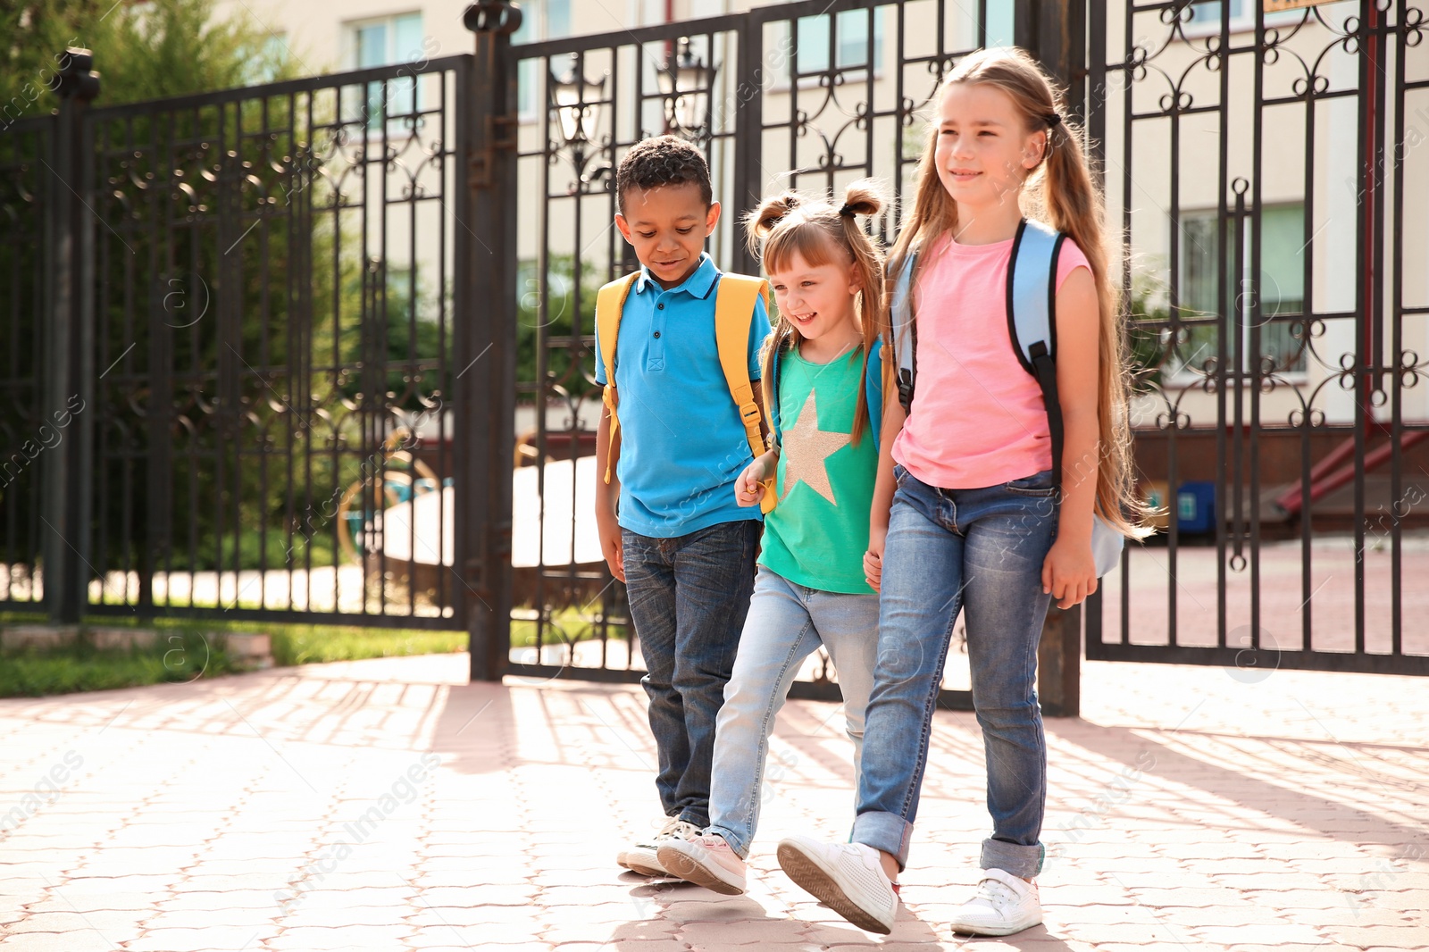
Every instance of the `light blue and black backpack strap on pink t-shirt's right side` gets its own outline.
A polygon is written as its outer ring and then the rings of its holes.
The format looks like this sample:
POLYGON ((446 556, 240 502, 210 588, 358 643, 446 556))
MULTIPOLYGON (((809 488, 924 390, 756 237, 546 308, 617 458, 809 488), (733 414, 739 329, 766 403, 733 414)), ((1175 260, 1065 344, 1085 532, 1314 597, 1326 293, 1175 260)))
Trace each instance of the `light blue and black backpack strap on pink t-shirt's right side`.
POLYGON ((1052 485, 1062 486, 1062 403, 1057 400, 1057 256, 1066 236, 1023 219, 1007 260, 1007 336, 1023 370, 1042 387, 1052 435, 1052 485))

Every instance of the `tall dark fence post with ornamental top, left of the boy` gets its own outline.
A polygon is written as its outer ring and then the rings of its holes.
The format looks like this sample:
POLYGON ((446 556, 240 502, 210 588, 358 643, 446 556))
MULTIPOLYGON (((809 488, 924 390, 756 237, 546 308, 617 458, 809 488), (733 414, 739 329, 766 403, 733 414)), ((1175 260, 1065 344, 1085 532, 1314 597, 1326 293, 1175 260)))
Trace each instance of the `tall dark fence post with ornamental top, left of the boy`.
POLYGON ((476 56, 457 90, 456 569, 472 680, 500 680, 512 640, 516 429, 516 63, 519 7, 466 9, 476 56), (464 100, 464 101, 462 101, 464 100))

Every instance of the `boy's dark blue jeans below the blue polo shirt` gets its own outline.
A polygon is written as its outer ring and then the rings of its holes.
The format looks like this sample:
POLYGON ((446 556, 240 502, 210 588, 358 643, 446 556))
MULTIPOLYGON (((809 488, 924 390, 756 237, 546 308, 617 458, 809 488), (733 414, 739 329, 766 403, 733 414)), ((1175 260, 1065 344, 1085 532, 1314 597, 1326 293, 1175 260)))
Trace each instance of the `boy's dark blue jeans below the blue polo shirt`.
POLYGON ((666 816, 709 825, 714 718, 755 587, 757 519, 722 522, 687 536, 622 530, 626 593, 649 673, 654 786, 666 816))

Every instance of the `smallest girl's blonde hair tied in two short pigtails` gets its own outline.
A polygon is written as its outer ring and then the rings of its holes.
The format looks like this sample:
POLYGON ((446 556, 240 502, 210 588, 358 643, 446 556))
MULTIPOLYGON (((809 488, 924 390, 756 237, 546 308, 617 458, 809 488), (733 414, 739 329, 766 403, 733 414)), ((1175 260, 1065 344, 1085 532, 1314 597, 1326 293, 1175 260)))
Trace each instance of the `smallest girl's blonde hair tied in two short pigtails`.
MULTIPOLYGON (((843 190, 842 207, 825 197, 810 197, 797 192, 782 192, 759 203, 745 214, 749 250, 765 263, 766 273, 785 270, 799 254, 810 267, 822 264, 853 264, 855 313, 863 333, 863 376, 869 373, 869 352, 883 330, 883 249, 859 227, 857 216, 875 216, 883 210, 883 196, 869 179, 850 183, 843 190)), ((779 314, 775 332, 760 356, 763 363, 765 406, 777 400, 770 393, 775 360, 800 340, 799 329, 785 314, 779 314)), ((853 413, 850 437, 855 445, 869 425, 867 387, 859 387, 859 405, 853 413)))

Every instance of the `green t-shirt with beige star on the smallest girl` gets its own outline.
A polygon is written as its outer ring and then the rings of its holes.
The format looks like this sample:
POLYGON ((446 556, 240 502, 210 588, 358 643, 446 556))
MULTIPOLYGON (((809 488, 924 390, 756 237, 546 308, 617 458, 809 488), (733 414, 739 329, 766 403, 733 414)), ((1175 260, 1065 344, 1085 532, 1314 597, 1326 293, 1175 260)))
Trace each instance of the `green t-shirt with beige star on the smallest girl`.
POLYGON ((810 363, 797 349, 779 365, 779 505, 765 516, 759 563, 796 585, 870 595, 863 577, 879 466, 870 426, 850 433, 863 392, 863 349, 810 363))

